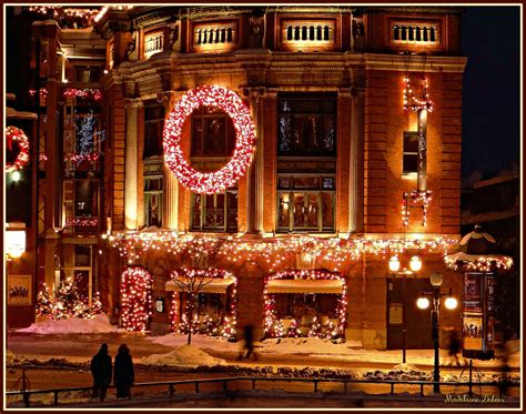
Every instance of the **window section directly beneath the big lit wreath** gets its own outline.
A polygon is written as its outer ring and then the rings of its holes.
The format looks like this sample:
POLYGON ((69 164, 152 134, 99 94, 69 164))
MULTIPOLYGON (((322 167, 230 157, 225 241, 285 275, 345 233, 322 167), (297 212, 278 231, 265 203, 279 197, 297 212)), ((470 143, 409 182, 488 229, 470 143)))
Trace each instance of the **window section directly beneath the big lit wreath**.
POLYGON ((218 194, 192 194, 192 230, 237 231, 237 190, 218 194))

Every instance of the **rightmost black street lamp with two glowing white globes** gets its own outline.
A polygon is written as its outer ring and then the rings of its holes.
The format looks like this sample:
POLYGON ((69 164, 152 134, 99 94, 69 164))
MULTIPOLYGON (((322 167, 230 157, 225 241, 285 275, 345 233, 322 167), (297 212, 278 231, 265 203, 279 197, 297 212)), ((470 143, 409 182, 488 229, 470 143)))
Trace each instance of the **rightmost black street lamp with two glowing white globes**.
POLYGON ((442 274, 441 273, 433 273, 429 277, 429 282, 433 285, 433 292, 421 292, 421 296, 416 300, 416 306, 422 310, 426 310, 429 307, 429 300, 425 297, 425 295, 433 297, 433 307, 431 310, 432 321, 433 321, 433 341, 435 343, 435 366, 433 371, 433 391, 435 394, 441 392, 441 367, 439 367, 439 347, 438 347, 438 340, 439 340, 439 314, 441 314, 441 297, 446 296, 444 301, 444 305, 448 310, 454 310, 458 305, 458 301, 453 296, 453 292, 449 289, 448 293, 441 293, 442 286, 442 274))

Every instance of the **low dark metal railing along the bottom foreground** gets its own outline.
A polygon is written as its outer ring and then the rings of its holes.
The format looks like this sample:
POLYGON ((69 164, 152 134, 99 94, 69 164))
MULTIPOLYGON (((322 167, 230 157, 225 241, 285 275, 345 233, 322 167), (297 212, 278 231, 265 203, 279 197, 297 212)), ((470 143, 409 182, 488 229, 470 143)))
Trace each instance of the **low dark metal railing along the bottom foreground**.
MULTIPOLYGON (((499 390, 499 397, 503 396, 503 382, 502 381, 494 381, 494 382, 473 382, 473 381, 465 381, 465 382, 434 382, 434 381, 399 381, 399 380, 346 380, 346 378, 293 378, 293 377, 265 377, 265 376, 234 376, 234 377, 220 377, 220 378, 201 378, 201 380, 178 380, 178 381, 160 381, 160 382, 148 382, 148 383, 136 383, 133 385, 133 388, 142 388, 142 387, 151 387, 151 386, 166 386, 168 393, 170 396, 175 394, 175 386, 176 385, 188 385, 193 384, 195 393, 200 393, 201 384, 212 384, 212 383, 222 383, 222 391, 235 391, 232 387, 229 387, 229 384, 233 382, 251 382, 252 390, 256 388, 257 382, 281 382, 281 383, 312 383, 313 384, 313 392, 318 392, 318 385, 321 383, 342 383, 343 384, 343 393, 348 392, 350 384, 384 384, 390 385, 391 394, 395 394, 395 385, 415 385, 419 386, 419 395, 425 396, 424 387, 425 386, 434 386, 435 384, 439 384, 441 386, 449 386, 455 387, 458 390, 459 387, 466 387, 467 393, 469 396, 473 395, 473 387, 498 387, 499 390)), ((509 382, 507 386, 509 387, 517 387, 520 384, 517 382, 509 382)), ((110 385, 108 388, 114 388, 114 385, 110 385)), ((30 397, 32 395, 38 394, 53 394, 53 405, 59 404, 59 393, 71 393, 71 392, 91 392, 93 390, 92 386, 83 386, 83 387, 68 387, 68 388, 53 388, 53 390, 20 390, 20 391, 8 391, 6 393, 7 396, 17 396, 22 395, 23 404, 29 407, 31 402, 30 397)))

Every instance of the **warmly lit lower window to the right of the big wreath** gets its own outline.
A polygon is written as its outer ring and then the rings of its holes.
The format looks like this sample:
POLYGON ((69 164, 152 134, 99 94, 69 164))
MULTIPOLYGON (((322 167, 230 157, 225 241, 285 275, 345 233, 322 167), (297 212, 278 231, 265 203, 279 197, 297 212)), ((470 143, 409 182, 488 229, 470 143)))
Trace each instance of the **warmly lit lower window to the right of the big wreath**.
POLYGON ((277 231, 334 231, 335 196, 334 176, 280 175, 277 231))

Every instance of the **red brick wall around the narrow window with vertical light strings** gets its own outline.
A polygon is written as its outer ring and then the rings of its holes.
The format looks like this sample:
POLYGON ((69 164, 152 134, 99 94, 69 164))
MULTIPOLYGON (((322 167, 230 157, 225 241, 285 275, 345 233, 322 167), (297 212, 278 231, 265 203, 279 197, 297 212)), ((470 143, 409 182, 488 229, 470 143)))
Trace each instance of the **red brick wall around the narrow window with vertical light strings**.
MULTIPOLYGON (((421 90, 422 73, 411 73, 421 90)), ((402 175, 403 133, 416 130, 416 113, 403 110, 403 72, 368 71, 365 90, 365 231, 404 232, 402 196, 416 190, 416 178, 402 175)), ((409 210, 407 232, 459 232, 462 74, 426 73, 434 110, 427 124, 427 189, 433 192, 423 226, 423 210, 409 210)))

